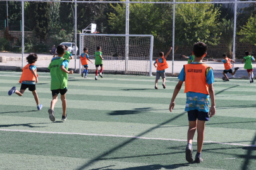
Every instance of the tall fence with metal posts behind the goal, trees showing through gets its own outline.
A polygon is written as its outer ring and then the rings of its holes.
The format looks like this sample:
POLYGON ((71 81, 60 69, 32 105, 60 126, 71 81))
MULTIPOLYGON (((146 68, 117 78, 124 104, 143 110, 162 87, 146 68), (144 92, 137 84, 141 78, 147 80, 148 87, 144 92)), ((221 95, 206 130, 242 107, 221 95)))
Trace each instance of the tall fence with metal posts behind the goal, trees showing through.
POLYGON ((222 59, 222 54, 243 67, 240 60, 245 51, 256 52, 255 1, 1 1, 0 11, 2 70, 21 69, 31 52, 39 55, 38 68, 46 69, 55 47, 65 42, 73 54, 69 68, 78 71, 76 54, 82 52, 76 48, 78 34, 91 23, 101 34, 153 35, 153 62, 159 52, 173 47, 166 70, 171 75, 187 63, 195 42, 208 45, 205 60, 214 72, 224 69, 223 64, 212 61, 222 59))

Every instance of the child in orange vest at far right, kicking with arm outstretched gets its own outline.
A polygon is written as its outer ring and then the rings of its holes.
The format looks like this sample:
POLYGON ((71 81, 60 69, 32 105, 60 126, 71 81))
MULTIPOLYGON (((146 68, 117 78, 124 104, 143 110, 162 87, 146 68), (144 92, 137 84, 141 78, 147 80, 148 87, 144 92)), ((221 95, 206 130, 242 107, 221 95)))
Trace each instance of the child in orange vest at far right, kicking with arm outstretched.
POLYGON ((232 76, 234 76, 236 74, 236 71, 239 69, 239 67, 236 67, 235 71, 233 72, 233 70, 232 70, 233 65, 231 64, 231 62, 235 63, 235 60, 229 59, 226 54, 222 54, 222 58, 223 58, 223 60, 214 60, 214 59, 212 59, 212 60, 216 61, 216 62, 223 62, 225 69, 222 72, 222 74, 224 76, 224 77, 222 77, 222 79, 224 81, 229 81, 227 73, 229 72, 232 76))

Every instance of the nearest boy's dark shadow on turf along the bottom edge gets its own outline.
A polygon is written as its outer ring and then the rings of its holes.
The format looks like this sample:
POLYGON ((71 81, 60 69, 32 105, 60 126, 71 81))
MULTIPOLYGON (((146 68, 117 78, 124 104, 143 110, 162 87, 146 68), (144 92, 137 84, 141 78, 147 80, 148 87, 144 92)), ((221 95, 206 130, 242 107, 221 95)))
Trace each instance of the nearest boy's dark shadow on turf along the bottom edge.
MULTIPOLYGON (((164 165, 161 165, 161 164, 152 164, 152 165, 147 165, 147 166, 135 166, 135 167, 125 167, 125 168, 122 168, 122 169, 116 169, 116 170, 139 170, 139 169, 147 169, 147 170, 157 170, 157 169, 177 169, 179 167, 187 167, 189 166, 188 163, 186 164, 172 164, 172 165, 168 165, 168 166, 164 166, 164 165)), ((114 169, 111 169, 109 167, 114 167, 113 166, 106 166, 106 167, 100 167, 100 168, 96 168, 96 169, 92 169, 92 170, 101 170, 101 169, 108 169, 108 170, 114 170, 114 169)))

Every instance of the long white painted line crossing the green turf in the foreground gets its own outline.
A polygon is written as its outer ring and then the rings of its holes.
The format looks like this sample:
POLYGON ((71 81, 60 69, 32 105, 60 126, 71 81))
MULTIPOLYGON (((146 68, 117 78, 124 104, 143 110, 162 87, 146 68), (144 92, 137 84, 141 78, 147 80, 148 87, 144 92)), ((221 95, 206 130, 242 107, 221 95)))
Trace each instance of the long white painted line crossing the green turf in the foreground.
MULTIPOLYGON (((34 130, 17 130, 17 129, 13 130, 13 129, 3 129, 3 128, 0 128, 0 131, 48 133, 48 134, 61 134, 61 135, 84 135, 84 136, 98 136, 98 137, 125 137, 125 138, 146 139, 146 140, 169 140, 169 141, 186 142, 186 140, 183 140, 183 139, 164 139, 164 138, 136 137, 136 136, 126 136, 126 135, 102 135, 102 134, 94 134, 94 133, 46 132, 46 131, 34 131, 34 130)), ((197 142, 197 140, 194 140, 194 142, 197 142)), ((214 141, 204 141, 204 143, 221 144, 221 145, 235 145, 235 146, 243 146, 243 147, 256 147, 256 145, 245 145, 245 144, 224 143, 224 142, 214 142, 214 141)))

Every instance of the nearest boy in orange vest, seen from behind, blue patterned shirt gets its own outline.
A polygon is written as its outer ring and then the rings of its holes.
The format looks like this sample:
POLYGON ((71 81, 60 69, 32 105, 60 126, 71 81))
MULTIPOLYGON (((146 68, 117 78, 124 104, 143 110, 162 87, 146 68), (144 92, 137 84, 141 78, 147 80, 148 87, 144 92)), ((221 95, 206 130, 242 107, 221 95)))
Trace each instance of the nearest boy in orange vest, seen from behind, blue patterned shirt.
POLYGON ((209 120, 209 116, 215 115, 215 96, 212 83, 214 82, 213 71, 211 67, 202 63, 207 54, 207 45, 202 42, 195 43, 193 53, 195 54, 195 62, 184 65, 180 72, 180 81, 176 85, 173 98, 169 106, 169 110, 173 111, 175 98, 178 95, 183 81, 185 81, 186 107, 188 111, 188 135, 186 145, 186 161, 193 162, 192 141, 197 130, 197 154, 195 162, 203 161, 201 152, 204 142, 205 121, 209 120), (209 96, 210 94, 210 96, 209 96), (209 110, 209 97, 211 100, 211 108, 209 110))

